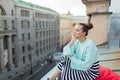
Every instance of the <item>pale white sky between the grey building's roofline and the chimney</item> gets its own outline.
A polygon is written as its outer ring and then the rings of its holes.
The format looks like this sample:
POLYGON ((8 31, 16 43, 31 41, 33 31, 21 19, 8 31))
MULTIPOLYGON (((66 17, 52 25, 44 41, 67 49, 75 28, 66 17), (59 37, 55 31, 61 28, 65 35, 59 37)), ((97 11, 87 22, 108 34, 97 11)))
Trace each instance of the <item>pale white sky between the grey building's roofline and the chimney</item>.
POLYGON ((57 11, 60 14, 65 14, 68 11, 74 16, 86 15, 86 7, 81 0, 23 0, 40 6, 48 7, 57 11))

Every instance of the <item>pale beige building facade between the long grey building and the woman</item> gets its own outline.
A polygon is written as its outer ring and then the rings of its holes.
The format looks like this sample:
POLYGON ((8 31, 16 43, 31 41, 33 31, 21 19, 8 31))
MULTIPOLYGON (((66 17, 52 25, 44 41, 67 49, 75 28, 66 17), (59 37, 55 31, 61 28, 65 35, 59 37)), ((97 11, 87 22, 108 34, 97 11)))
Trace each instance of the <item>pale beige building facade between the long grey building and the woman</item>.
POLYGON ((73 23, 71 17, 60 17, 60 50, 70 41, 73 23))

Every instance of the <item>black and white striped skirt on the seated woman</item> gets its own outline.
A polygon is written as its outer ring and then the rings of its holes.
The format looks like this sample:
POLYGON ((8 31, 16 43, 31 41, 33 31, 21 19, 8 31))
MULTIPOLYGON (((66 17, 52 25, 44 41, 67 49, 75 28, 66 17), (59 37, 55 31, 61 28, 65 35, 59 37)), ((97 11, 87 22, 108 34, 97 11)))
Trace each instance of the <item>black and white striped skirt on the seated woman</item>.
POLYGON ((61 71, 61 80, 95 80, 99 76, 99 61, 95 62, 90 69, 82 71, 71 69, 70 59, 64 57, 57 67, 61 71))

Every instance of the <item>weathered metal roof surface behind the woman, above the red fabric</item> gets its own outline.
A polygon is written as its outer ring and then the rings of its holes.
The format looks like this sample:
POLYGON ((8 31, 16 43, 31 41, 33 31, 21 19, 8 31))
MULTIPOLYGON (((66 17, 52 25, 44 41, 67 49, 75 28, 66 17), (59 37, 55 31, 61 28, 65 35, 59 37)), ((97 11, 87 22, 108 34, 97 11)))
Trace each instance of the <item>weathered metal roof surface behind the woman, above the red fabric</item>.
POLYGON ((100 64, 120 75, 120 49, 99 48, 100 64))

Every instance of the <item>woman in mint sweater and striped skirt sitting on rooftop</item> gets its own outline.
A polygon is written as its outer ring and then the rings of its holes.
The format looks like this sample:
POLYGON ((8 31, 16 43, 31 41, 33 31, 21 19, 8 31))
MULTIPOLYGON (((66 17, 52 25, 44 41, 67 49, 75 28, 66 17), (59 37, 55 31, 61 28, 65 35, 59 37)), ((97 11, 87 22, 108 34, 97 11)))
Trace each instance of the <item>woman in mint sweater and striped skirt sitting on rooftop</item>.
POLYGON ((87 38, 91 23, 75 25, 71 41, 63 48, 65 56, 49 80, 61 73, 61 80, 95 80, 99 76, 98 50, 87 38))

